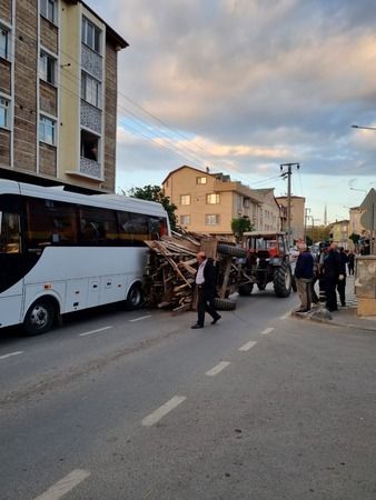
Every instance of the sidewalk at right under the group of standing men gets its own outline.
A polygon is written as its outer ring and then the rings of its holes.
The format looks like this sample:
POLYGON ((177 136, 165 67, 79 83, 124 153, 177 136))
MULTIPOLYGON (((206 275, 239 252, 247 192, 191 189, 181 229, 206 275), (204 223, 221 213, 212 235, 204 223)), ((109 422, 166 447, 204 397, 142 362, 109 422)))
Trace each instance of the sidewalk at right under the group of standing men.
POLYGON ((356 307, 357 299, 354 290, 354 276, 348 276, 346 278, 346 307, 338 306, 338 311, 329 312, 321 304, 314 304, 311 311, 305 313, 293 311, 291 316, 337 327, 356 328, 376 332, 376 311, 373 317, 358 317, 356 307))

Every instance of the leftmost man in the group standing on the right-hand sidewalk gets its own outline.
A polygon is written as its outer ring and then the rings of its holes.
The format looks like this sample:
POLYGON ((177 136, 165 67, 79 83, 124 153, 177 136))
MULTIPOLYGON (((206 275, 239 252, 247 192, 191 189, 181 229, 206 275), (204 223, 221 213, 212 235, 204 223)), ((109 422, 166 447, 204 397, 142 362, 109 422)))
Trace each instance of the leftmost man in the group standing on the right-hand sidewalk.
POLYGON ((296 261, 296 287, 300 299, 300 307, 296 312, 308 312, 311 306, 311 282, 314 279, 314 257, 307 246, 299 244, 299 256, 296 261))

